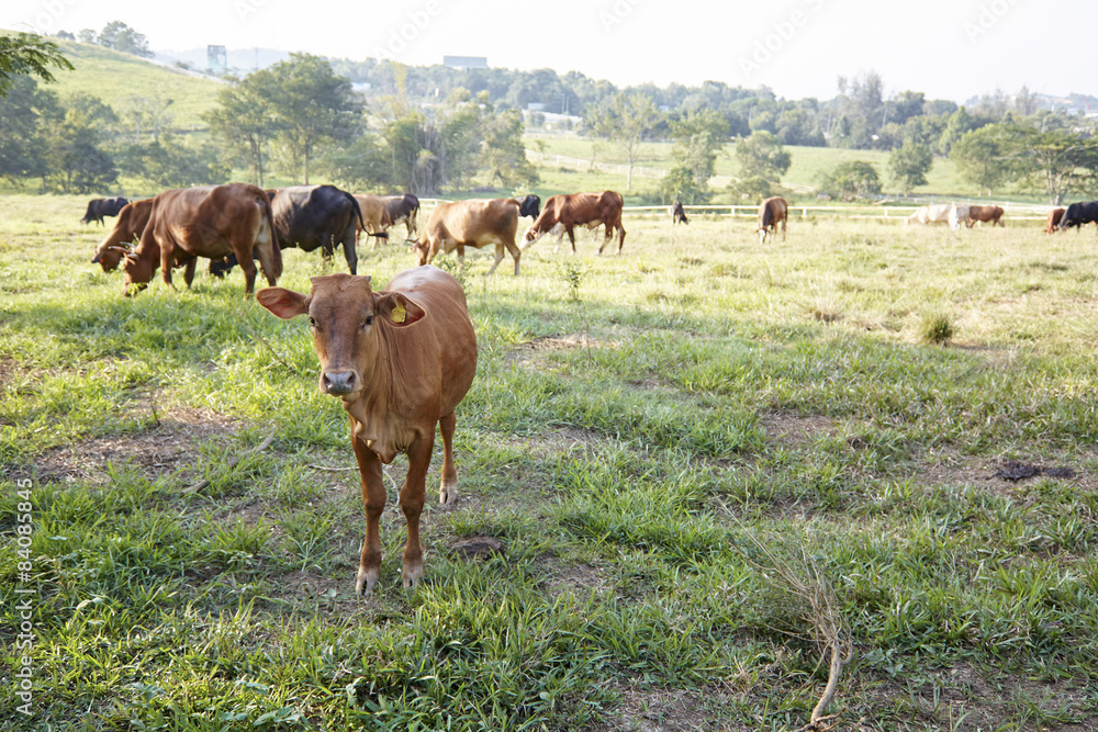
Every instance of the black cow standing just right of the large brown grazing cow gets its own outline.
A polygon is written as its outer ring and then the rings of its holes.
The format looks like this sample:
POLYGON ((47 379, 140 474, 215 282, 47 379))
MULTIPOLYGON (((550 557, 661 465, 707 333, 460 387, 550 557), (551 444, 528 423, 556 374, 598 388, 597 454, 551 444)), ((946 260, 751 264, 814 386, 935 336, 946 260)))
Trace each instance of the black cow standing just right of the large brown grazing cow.
POLYGON ((340 244, 347 268, 351 274, 357 273, 356 232, 362 224, 362 212, 350 193, 335 185, 280 188, 271 201, 271 213, 281 248, 298 247, 304 251, 320 248, 321 256, 328 260, 340 244))

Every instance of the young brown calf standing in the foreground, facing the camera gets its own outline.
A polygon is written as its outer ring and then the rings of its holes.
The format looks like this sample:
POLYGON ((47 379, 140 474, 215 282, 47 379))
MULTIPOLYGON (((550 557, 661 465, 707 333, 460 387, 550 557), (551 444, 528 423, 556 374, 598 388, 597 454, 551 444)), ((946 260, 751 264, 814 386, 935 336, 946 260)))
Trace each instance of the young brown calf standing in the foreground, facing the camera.
POLYGON ((434 267, 401 272, 381 292, 370 278, 312 278, 310 294, 266 288, 256 301, 280 318, 307 315, 321 361, 320 388, 343 398, 362 478, 366 540, 355 589, 373 590, 381 568, 379 522, 385 506, 382 463, 407 455, 400 492, 408 538, 402 571, 405 587, 423 577, 419 514, 435 425, 442 435, 440 504, 458 500, 453 463, 455 408, 477 372, 477 335, 461 285, 434 267))

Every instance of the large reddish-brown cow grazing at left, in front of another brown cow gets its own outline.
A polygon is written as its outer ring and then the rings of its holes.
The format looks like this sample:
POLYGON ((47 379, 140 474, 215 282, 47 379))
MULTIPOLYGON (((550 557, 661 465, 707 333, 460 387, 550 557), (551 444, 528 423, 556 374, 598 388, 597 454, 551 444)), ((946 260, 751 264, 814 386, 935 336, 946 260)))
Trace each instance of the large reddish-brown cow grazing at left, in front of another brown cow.
POLYGON ((165 191, 153 199, 141 241, 122 266, 125 292, 131 294, 132 285, 144 289, 158 266, 171 286, 172 267, 186 264, 190 286, 195 257, 228 255, 235 255, 244 270, 246 294, 251 294, 256 283, 253 255, 259 258, 269 284, 282 275, 271 204, 262 189, 229 183, 165 191))

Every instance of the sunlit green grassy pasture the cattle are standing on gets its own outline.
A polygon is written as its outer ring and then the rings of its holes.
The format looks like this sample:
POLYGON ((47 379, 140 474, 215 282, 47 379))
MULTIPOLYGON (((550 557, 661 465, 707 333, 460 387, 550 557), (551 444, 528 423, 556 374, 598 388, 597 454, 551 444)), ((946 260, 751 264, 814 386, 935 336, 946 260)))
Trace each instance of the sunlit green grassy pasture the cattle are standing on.
MULTIPOLYGON (((760 544, 849 626, 834 729, 1098 729, 1094 232, 795 219, 760 246, 631 215, 620 257, 542 239, 485 279, 472 252, 462 500, 425 511, 412 594, 391 503, 358 603, 305 325, 238 271, 123 299, 85 203, 0 198, 0 729, 798 729, 827 662, 760 544)), ((360 254, 377 283, 414 263, 360 254)), ((322 271, 290 250, 282 284, 322 271)))

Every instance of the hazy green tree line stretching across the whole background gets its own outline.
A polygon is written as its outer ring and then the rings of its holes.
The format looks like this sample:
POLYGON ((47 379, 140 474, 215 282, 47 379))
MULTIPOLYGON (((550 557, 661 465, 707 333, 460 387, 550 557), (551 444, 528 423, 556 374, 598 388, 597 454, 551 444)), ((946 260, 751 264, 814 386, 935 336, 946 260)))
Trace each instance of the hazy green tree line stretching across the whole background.
MULTIPOLYGON (((98 34, 82 31, 81 38, 147 54, 144 36, 119 21, 98 34)), ((56 46, 52 53, 67 63, 56 46)), ((727 191, 733 200, 770 195, 789 168, 786 145, 888 150, 889 177, 904 192, 925 184, 934 159, 944 156, 977 192, 1015 185, 1060 203, 1098 187, 1094 123, 1040 109, 1024 87, 1012 97, 996 91, 968 109, 914 91, 886 98, 879 76, 869 72, 840 78, 831 100, 787 101, 766 88, 716 81, 619 90, 575 71, 293 54, 229 78, 205 115, 211 134, 182 135, 171 124, 170 98, 132 97, 114 108, 88 94, 58 99, 37 86, 33 67, 27 75, 12 66, 20 58, 14 49, 0 53, 0 61, 16 69, 4 74, 0 66, 0 85, 9 87, 0 106, 0 177, 22 184, 40 179, 43 190, 105 190, 120 177, 159 188, 219 182, 231 166, 249 170, 260 185, 323 178, 427 195, 474 181, 522 189, 537 181, 526 159, 524 113, 539 124, 540 110, 574 115, 569 119, 578 117, 584 134, 619 150, 627 190, 640 145, 674 140, 671 168, 654 194, 662 201, 709 201, 725 153, 739 166, 727 191), (369 88, 362 94, 352 82, 369 88)), ((878 171, 856 160, 821 171, 817 182, 844 199, 875 195, 882 185, 878 171)))

